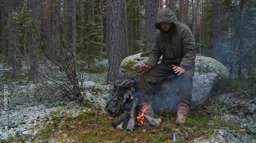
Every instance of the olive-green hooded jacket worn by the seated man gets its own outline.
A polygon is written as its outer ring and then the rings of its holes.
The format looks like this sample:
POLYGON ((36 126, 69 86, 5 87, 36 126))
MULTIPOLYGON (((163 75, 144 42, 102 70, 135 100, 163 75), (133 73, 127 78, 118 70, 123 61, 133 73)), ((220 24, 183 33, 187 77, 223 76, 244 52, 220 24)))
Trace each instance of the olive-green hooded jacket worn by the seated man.
POLYGON ((194 71, 196 45, 189 27, 179 22, 173 11, 167 8, 158 12, 155 26, 158 31, 147 64, 154 69, 162 55, 162 64, 194 71), (162 29, 160 23, 163 22, 172 23, 168 32, 162 29))

